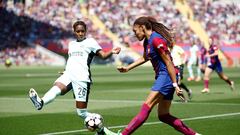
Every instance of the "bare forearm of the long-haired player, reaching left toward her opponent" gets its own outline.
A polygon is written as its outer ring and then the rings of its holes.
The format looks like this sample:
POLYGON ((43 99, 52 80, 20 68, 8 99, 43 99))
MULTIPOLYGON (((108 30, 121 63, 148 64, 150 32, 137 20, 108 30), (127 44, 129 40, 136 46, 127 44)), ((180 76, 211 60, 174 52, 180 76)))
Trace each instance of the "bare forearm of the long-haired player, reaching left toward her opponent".
POLYGON ((142 65, 146 61, 147 60, 144 57, 141 57, 141 58, 137 59, 135 62, 133 62, 132 64, 128 65, 127 67, 117 67, 117 70, 121 73, 125 73, 139 65, 142 65))

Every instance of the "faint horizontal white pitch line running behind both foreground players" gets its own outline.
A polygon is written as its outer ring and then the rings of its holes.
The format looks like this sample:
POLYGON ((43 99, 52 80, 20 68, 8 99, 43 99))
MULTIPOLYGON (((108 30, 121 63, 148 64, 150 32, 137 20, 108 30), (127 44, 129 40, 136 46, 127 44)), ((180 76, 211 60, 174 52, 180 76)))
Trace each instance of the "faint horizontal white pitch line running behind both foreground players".
MULTIPOLYGON (((11 97, 1 97, 1 101, 28 101, 29 98, 11 98, 11 97)), ((74 102, 74 99, 56 99, 54 102, 74 102)), ((102 99, 90 99, 89 102, 101 102, 101 103, 143 103, 144 101, 141 100, 102 100, 102 99)), ((208 103, 208 102, 188 102, 188 103, 182 103, 182 102, 172 102, 173 104, 183 104, 183 105, 188 105, 188 104, 198 104, 198 105, 232 105, 232 106, 240 106, 240 103, 208 103)), ((139 104, 140 105, 140 104, 139 104)))

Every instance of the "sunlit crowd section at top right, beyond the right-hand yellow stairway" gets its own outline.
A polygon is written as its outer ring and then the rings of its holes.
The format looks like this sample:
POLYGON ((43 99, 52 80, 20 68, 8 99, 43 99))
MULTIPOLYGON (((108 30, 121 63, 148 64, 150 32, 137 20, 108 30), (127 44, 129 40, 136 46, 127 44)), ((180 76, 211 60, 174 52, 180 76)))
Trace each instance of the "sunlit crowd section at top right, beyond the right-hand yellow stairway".
POLYGON ((240 43, 240 4, 223 0, 208 3, 194 0, 189 4, 208 35, 226 44, 240 43))

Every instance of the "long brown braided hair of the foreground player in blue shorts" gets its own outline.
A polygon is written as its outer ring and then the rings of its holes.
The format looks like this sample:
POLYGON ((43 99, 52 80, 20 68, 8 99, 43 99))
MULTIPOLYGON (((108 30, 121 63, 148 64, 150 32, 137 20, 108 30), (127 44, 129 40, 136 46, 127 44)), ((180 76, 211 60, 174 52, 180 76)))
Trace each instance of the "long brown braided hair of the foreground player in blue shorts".
POLYGON ((162 23, 157 22, 157 20, 153 17, 139 17, 135 22, 134 25, 145 25, 147 30, 152 29, 153 31, 156 31, 157 33, 161 34, 167 41, 169 47, 173 46, 174 40, 173 40, 173 34, 171 29, 164 26, 162 23))

